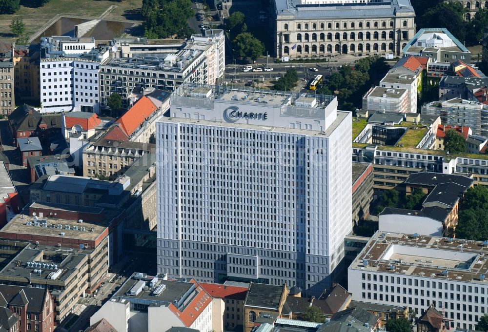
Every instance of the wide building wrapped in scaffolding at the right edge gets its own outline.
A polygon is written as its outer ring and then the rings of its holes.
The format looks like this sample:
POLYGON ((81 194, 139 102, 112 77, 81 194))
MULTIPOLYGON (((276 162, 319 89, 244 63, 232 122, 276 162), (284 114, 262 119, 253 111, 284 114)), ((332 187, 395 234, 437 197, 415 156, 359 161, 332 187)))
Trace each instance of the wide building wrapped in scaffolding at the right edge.
POLYGON ((469 127, 473 134, 488 136, 488 105, 461 98, 432 101, 422 106, 422 114, 441 117, 444 124, 469 127))

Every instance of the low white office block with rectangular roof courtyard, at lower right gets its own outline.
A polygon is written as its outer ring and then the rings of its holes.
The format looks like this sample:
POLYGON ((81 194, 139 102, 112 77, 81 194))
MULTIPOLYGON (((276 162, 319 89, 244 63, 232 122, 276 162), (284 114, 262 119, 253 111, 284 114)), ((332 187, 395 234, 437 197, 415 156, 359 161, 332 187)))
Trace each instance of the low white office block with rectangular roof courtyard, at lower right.
POLYGON ((348 291, 417 317, 434 305, 451 329, 473 330, 488 313, 487 243, 378 231, 349 266, 348 291))

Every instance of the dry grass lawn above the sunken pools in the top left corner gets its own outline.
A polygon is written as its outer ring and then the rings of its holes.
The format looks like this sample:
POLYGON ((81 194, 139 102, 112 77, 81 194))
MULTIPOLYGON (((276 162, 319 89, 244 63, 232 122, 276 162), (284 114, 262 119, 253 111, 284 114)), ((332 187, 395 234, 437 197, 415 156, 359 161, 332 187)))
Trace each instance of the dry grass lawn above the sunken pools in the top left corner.
MULTIPOLYGON (((21 1, 29 3, 30 0, 21 1)), ((8 25, 17 17, 25 23, 28 35, 36 33, 44 24, 53 19, 56 14, 61 16, 76 16, 88 19, 98 19, 110 6, 117 7, 104 18, 107 20, 130 20, 134 9, 141 8, 142 0, 124 0, 121 2, 108 0, 50 0, 39 8, 20 6, 13 15, 0 15, 0 38, 9 39, 8 25)))

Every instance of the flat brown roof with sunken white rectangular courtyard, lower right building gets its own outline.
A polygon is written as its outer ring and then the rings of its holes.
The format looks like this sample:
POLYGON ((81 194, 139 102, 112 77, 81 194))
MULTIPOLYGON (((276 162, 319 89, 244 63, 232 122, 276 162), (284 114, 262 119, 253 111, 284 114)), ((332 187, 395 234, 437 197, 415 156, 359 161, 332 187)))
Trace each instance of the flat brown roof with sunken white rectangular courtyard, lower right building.
POLYGON ((377 231, 349 270, 483 283, 487 250, 479 241, 377 231))

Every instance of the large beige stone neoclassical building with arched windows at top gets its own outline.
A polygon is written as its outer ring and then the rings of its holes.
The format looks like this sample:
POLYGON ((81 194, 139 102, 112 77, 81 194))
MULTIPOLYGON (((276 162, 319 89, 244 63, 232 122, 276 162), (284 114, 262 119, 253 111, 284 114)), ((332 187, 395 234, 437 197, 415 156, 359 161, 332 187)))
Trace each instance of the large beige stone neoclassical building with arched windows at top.
POLYGON ((415 35, 410 0, 273 0, 276 58, 393 54, 415 35))

